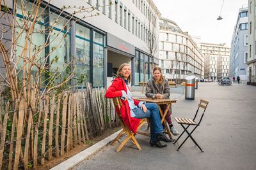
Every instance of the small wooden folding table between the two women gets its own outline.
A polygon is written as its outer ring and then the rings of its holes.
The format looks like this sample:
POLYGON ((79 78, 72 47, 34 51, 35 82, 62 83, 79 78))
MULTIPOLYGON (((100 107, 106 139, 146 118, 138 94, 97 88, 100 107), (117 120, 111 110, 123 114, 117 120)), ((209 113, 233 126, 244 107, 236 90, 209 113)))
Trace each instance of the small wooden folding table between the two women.
POLYGON ((164 125, 164 129, 165 129, 166 133, 168 134, 170 139, 172 139, 172 134, 170 132, 170 129, 169 129, 169 126, 168 126, 168 123, 167 123, 167 120, 166 120, 166 114, 167 114, 169 108, 172 107, 172 103, 176 103, 177 100, 173 100, 173 99, 151 99, 151 98, 148 98, 148 97, 147 98, 136 98, 136 100, 145 101, 147 103, 156 103, 157 104, 157 106, 159 108, 159 113, 161 115, 161 122, 164 125), (161 109, 161 105, 167 105, 167 107, 164 111, 161 109))

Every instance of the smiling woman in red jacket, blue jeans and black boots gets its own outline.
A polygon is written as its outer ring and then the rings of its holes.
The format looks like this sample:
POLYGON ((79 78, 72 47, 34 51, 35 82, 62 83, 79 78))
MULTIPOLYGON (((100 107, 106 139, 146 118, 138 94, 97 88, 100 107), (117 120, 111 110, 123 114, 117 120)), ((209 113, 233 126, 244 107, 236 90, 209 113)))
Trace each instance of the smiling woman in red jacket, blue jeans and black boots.
POLYGON ((106 97, 121 97, 122 108, 120 114, 122 114, 122 118, 127 127, 129 127, 132 132, 136 133, 138 125, 140 124, 140 118, 150 118, 150 145, 163 148, 167 145, 162 145, 160 141, 173 142, 174 140, 168 139, 163 133, 163 125, 161 124, 157 104, 144 104, 143 102, 136 101, 132 98, 131 91, 127 86, 131 81, 131 68, 129 64, 121 64, 117 71, 117 75, 118 77, 115 78, 106 91, 106 97))

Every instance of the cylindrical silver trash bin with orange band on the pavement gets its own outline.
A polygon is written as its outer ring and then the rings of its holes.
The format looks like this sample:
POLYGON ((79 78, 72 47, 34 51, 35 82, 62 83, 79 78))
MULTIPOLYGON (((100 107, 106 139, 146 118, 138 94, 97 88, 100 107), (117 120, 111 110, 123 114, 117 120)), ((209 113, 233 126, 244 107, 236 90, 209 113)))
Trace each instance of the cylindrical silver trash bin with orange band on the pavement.
POLYGON ((185 84, 185 99, 195 100, 195 78, 196 76, 187 76, 185 84))

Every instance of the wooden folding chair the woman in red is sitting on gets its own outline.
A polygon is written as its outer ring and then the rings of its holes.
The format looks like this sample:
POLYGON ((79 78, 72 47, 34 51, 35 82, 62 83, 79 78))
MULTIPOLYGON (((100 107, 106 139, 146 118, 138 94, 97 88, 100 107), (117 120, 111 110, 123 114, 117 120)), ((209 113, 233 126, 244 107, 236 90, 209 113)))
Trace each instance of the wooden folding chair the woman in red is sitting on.
MULTIPOLYGON (((119 110, 121 110, 121 106, 122 106, 122 103, 121 103, 121 100, 120 100, 120 97, 115 97, 113 98, 113 103, 115 105, 115 108, 118 108, 119 110)), ((111 142, 111 145, 114 145, 116 143, 116 141, 118 141, 118 139, 123 136, 124 134, 127 135, 127 137, 124 139, 124 141, 122 141, 122 143, 120 143, 120 145, 118 146, 116 152, 120 152, 120 150, 122 150, 122 148, 124 147, 125 143, 127 143, 127 141, 129 141, 129 139, 131 139, 131 142, 137 146, 137 148, 139 150, 141 150, 141 146, 139 145, 138 141, 135 139, 135 135, 134 132, 132 132, 128 127, 127 125, 124 124, 124 121, 122 119, 122 115, 118 114, 118 112, 116 111, 116 115, 118 116, 118 120, 122 126, 122 131, 116 136, 115 139, 113 139, 113 141, 111 142)), ((145 124, 145 122, 147 122, 147 119, 146 118, 142 118, 141 121, 140 121, 140 124, 138 126, 138 129, 140 129, 140 127, 145 124)), ((138 134, 143 134, 145 136, 150 136, 149 134, 147 134, 146 132, 140 132, 140 131, 137 131, 138 134)))

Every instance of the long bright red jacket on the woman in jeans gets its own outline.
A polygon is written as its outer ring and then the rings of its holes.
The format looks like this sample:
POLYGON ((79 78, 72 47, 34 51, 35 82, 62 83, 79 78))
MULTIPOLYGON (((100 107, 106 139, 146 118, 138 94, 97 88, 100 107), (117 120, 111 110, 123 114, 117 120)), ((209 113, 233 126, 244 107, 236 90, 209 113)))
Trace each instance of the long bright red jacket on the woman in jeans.
MULTIPOLYGON (((122 90, 127 93, 125 81, 122 78, 115 78, 112 85, 106 91, 107 98, 114 98, 114 97, 122 97, 122 90)), ((140 124, 139 118, 131 117, 131 112, 129 108, 128 101, 122 101, 121 111, 116 108, 118 114, 122 115, 122 119, 124 120, 125 125, 134 133, 136 133, 138 126, 140 124), (121 112, 121 113, 120 113, 121 112)), ((133 99, 134 104, 138 106, 140 101, 133 99)))

